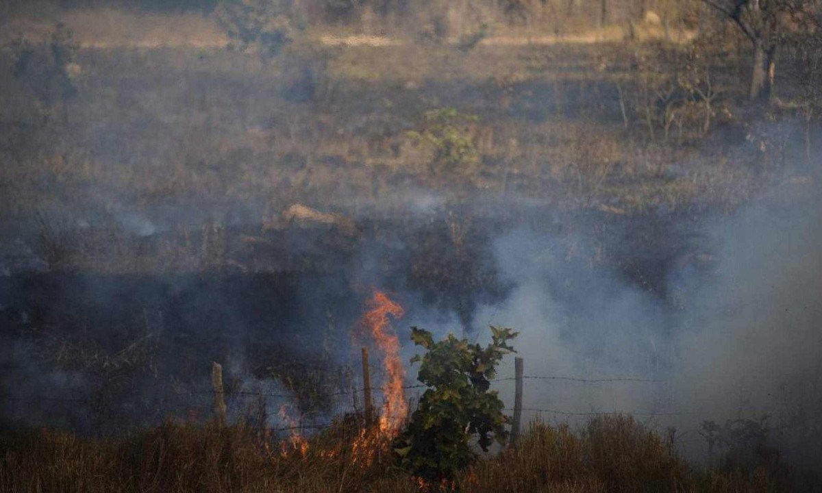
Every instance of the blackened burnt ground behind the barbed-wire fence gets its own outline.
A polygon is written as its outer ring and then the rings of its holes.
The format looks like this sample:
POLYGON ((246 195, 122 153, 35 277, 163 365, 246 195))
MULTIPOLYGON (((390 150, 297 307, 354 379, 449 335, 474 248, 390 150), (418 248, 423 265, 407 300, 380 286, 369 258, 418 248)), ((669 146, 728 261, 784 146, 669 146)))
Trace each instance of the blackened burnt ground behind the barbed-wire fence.
MULTIPOLYGON (((357 378, 352 334, 372 288, 411 313, 451 316, 470 335, 483 323, 474 320, 477 307, 503 302, 516 281, 499 272, 496 238, 523 230, 552 243, 562 269, 614 276, 674 311, 669 276, 706 267, 696 260, 694 227, 692 218, 658 213, 486 203, 361 218, 353 232, 291 224, 226 228, 215 240, 206 227, 188 233, 194 246, 163 270, 155 262, 147 272, 104 268, 123 261, 122 248, 91 248, 96 271, 77 268, 83 254, 74 251, 67 254, 74 266, 0 277, 3 345, 12 348, 2 362, 2 391, 12 398, 2 419, 104 432, 207 416, 210 362, 227 363, 229 389, 277 380, 301 412, 325 416, 339 403, 333 395, 357 378)), ((85 239, 67 241, 73 248, 96 238, 75 234, 85 239)), ((182 242, 177 232, 114 236, 113 244, 151 259, 182 242)), ((123 264, 135 265, 145 269, 140 261, 123 264)), ((547 279, 569 310, 587 296, 577 281, 547 279)), ((396 328, 407 338, 407 326, 396 328)), ((235 397, 234 412, 246 412, 247 399, 235 397)))

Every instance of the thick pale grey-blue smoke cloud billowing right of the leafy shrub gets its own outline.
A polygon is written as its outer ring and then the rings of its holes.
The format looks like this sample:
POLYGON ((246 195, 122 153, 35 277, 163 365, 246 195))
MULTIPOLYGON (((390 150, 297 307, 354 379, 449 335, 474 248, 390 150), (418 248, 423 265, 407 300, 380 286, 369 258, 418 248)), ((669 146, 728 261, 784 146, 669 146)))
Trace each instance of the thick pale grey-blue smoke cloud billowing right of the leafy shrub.
MULTIPOLYGON (((699 254, 667 276, 667 300, 569 260, 568 245, 584 240, 517 229, 496 241, 501 272, 516 287, 476 319, 520 329, 526 376, 655 380, 526 380, 524 408, 549 410, 544 419, 633 413, 676 426, 683 448, 704 456, 704 420, 767 417, 772 445, 792 458, 818 457, 819 205, 763 198, 705 221, 699 254)), ((513 375, 512 361, 501 375, 513 375)), ((498 386, 513 402, 512 383, 498 386)))

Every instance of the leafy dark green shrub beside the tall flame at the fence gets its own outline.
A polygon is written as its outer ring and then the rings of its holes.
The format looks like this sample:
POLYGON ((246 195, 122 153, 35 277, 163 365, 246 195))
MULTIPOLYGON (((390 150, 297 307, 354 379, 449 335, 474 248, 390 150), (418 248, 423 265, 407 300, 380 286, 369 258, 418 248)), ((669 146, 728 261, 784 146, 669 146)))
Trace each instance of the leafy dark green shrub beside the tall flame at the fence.
POLYGON ((422 362, 418 380, 430 387, 413 412, 408 428, 397 437, 394 452, 399 467, 430 481, 453 479, 476 458, 469 441, 474 437, 483 451, 496 440, 504 443, 508 418, 496 391, 489 391, 496 365, 514 348, 517 333, 491 327, 486 348, 449 334, 434 342, 427 330, 413 327, 411 340, 427 352, 413 357, 422 362))

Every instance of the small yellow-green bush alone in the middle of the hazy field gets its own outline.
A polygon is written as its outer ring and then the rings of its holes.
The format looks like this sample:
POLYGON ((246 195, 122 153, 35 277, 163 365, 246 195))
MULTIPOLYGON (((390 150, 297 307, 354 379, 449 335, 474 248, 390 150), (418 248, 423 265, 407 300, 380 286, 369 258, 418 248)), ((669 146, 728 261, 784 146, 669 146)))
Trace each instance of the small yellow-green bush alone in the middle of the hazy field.
POLYGON ((478 161, 473 143, 473 127, 478 121, 476 115, 455 108, 437 108, 425 112, 421 129, 408 135, 432 147, 434 173, 465 171, 478 161))

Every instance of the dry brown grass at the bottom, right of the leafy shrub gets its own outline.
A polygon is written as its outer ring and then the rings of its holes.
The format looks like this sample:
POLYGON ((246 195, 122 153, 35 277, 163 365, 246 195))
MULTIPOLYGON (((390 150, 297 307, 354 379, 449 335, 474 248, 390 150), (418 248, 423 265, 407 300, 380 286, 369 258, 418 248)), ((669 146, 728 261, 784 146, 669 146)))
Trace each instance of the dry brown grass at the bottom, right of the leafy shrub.
POLYGON ((630 417, 594 417, 580 431, 534 422, 517 449, 465 473, 468 491, 772 491, 767 475, 700 472, 630 417), (504 486, 503 486, 504 485, 504 486))

